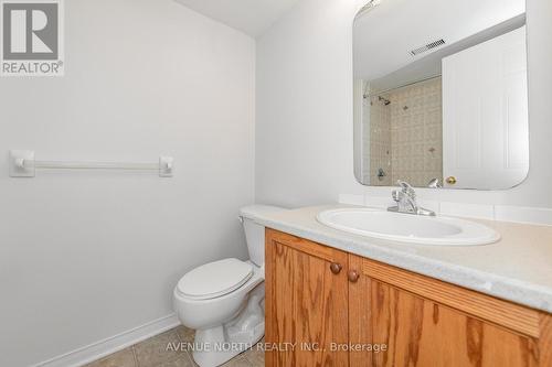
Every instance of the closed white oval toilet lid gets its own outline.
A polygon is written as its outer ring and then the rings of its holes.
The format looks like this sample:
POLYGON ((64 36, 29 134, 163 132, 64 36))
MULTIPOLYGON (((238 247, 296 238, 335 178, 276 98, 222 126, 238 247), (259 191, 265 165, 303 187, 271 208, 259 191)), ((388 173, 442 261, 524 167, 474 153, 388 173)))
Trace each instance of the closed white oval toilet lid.
POLYGON ((193 299, 214 299, 242 287, 253 276, 253 266, 237 259, 205 263, 188 272, 178 290, 193 299))

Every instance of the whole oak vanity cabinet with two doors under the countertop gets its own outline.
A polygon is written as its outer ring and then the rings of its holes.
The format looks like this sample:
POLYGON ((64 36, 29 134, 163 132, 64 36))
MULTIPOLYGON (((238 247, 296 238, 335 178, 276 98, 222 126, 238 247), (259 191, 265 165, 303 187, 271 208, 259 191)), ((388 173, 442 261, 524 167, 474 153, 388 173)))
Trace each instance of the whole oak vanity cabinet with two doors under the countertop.
POLYGON ((267 229, 266 343, 267 366, 549 367, 552 316, 267 229))

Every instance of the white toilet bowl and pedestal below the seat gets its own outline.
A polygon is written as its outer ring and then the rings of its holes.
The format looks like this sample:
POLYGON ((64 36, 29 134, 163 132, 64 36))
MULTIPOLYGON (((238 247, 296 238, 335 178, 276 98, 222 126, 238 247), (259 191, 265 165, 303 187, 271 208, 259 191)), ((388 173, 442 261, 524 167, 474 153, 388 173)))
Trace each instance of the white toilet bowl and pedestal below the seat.
POLYGON ((265 334, 264 283, 254 289, 246 305, 223 325, 195 331, 192 357, 200 367, 216 367, 255 347, 265 334))

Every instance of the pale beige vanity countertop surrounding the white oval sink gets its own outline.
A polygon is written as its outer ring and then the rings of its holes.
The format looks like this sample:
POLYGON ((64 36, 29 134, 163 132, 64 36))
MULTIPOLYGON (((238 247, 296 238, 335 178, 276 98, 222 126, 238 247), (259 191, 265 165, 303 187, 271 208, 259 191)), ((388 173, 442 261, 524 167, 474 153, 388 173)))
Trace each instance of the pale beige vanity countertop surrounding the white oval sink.
POLYGON ((552 226, 469 219, 495 228, 501 239, 468 247, 423 246, 372 239, 319 224, 327 205, 250 213, 246 217, 294 236, 538 310, 552 312, 552 226))

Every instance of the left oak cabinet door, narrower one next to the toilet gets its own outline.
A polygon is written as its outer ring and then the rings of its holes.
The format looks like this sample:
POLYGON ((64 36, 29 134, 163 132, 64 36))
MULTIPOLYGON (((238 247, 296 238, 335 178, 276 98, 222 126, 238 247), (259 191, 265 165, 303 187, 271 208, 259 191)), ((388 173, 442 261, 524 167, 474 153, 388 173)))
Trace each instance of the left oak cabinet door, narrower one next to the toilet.
POLYGON ((348 366, 346 252, 266 230, 266 365, 348 366))

